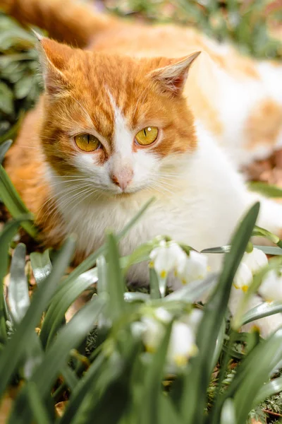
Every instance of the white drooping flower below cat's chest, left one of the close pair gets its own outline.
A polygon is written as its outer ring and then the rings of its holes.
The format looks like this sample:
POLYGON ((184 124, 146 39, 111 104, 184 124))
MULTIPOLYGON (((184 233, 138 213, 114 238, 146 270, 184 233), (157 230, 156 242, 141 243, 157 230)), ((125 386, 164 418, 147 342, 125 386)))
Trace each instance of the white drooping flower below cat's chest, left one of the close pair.
POLYGON ((185 260, 186 254, 176 242, 162 240, 149 255, 154 269, 161 278, 166 278, 172 269, 185 260))

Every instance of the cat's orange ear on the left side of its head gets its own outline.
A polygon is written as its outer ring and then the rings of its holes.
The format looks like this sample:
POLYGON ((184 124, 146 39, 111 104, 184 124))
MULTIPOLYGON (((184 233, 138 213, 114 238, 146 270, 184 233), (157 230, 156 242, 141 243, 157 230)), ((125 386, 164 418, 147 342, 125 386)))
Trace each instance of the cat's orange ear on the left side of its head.
POLYGON ((74 49, 47 37, 36 35, 39 40, 37 50, 45 89, 51 95, 60 94, 68 87, 68 80, 64 71, 66 71, 68 61, 73 56, 74 49))

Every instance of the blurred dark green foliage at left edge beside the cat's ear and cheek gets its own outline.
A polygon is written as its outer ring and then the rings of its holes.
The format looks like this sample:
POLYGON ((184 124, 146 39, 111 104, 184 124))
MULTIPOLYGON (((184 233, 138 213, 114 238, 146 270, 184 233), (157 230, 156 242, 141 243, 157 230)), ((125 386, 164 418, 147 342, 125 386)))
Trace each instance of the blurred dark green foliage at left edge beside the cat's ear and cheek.
POLYGON ((30 31, 0 13, 0 143, 14 138, 19 117, 38 98, 40 77, 34 47, 30 31))

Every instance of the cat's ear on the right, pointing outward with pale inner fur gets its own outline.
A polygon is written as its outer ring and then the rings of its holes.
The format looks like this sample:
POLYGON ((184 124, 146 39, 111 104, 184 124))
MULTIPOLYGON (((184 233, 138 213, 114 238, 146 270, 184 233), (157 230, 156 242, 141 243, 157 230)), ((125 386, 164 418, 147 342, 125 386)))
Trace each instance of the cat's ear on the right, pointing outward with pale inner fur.
POLYGON ((149 76, 161 85, 161 89, 173 95, 182 93, 193 61, 201 52, 195 52, 183 59, 170 59, 170 64, 154 69, 149 76))

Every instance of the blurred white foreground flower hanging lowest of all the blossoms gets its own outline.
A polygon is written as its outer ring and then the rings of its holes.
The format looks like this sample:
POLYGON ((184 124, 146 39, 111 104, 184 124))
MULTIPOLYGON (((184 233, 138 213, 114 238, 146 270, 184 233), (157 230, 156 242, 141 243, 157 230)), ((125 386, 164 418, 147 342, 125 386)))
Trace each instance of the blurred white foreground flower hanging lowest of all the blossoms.
POLYGON ((168 345, 168 365, 184 367, 188 360, 197 355, 195 333, 184 322, 173 322, 171 338, 168 345))

